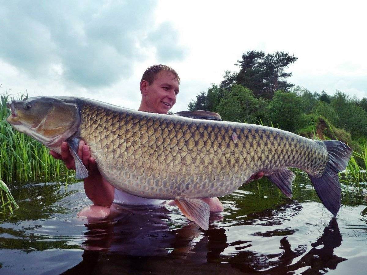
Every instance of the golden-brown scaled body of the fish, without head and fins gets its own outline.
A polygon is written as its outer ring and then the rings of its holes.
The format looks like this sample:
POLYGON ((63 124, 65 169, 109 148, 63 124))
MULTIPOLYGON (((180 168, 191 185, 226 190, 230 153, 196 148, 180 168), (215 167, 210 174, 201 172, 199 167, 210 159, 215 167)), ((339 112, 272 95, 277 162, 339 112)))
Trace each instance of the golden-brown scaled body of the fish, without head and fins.
POLYGON ((102 175, 140 197, 217 197, 259 171, 320 176, 327 164, 322 145, 280 129, 145 114, 85 104, 80 124, 102 175))

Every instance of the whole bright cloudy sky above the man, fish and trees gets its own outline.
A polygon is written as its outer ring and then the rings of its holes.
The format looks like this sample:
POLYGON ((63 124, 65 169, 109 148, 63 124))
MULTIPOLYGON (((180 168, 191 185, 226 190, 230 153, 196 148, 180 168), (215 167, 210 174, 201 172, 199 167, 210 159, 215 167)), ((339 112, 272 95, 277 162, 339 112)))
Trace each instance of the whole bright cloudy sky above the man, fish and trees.
POLYGON ((0 93, 137 109, 156 63, 181 77, 173 111, 249 50, 298 57, 290 82, 367 96, 366 4, 355 1, 0 1, 0 93))

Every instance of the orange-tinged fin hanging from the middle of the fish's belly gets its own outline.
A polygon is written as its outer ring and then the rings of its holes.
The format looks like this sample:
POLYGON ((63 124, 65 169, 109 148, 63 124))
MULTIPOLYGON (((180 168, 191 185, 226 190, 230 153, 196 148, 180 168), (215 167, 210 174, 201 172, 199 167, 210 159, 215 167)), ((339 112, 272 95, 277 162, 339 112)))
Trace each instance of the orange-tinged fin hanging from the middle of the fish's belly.
POLYGON ((201 199, 177 198, 175 202, 182 213, 201 228, 208 230, 210 207, 201 199))

